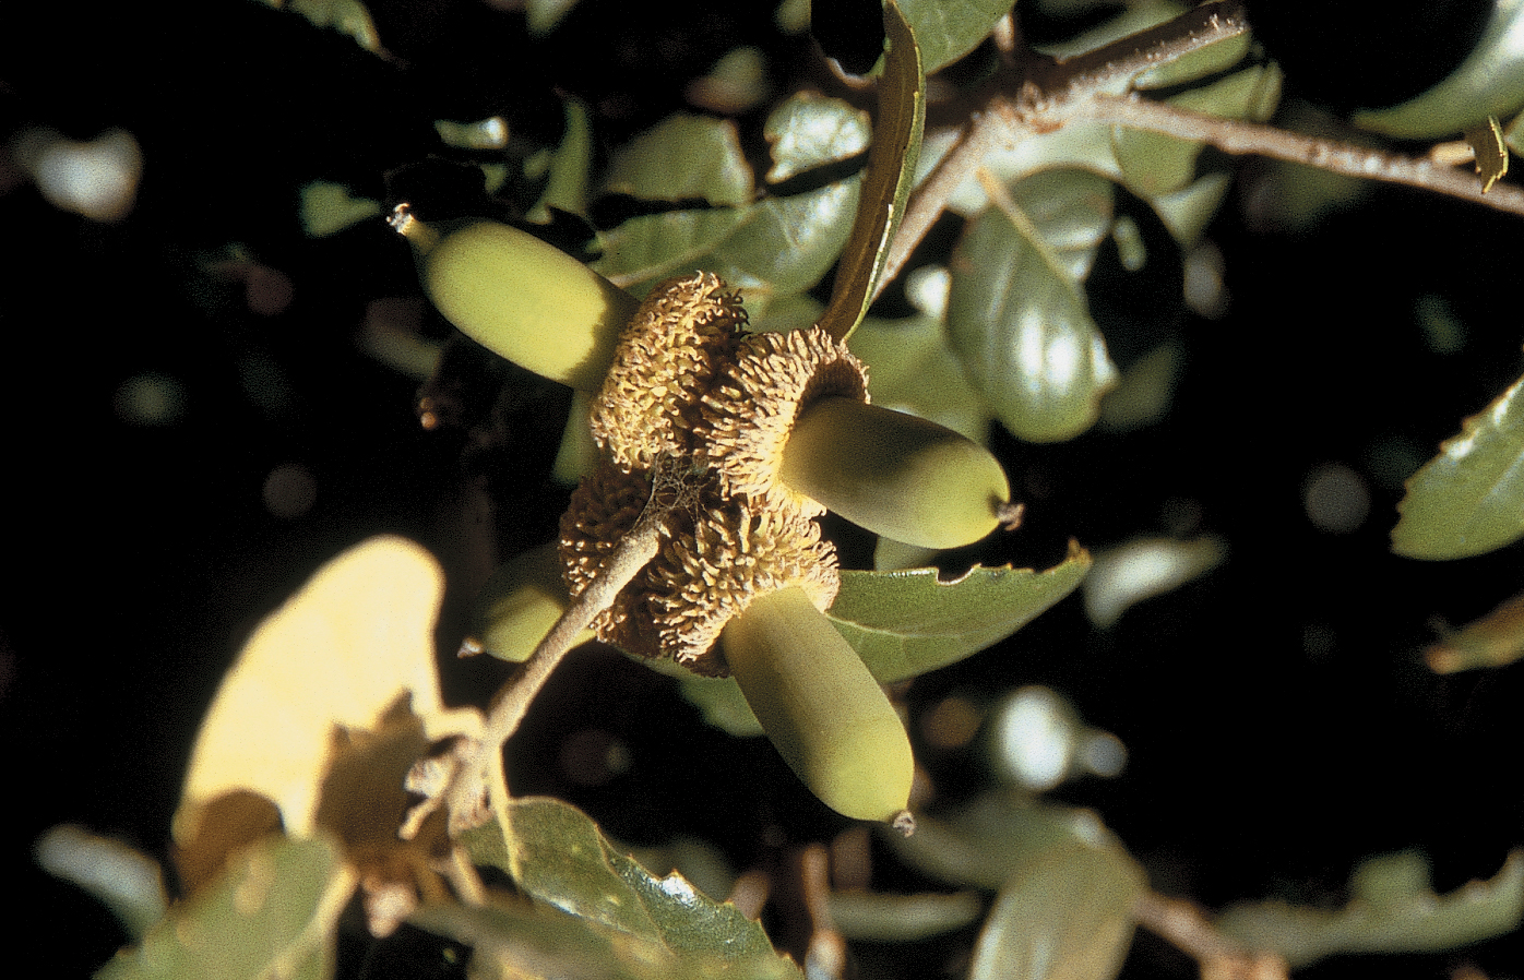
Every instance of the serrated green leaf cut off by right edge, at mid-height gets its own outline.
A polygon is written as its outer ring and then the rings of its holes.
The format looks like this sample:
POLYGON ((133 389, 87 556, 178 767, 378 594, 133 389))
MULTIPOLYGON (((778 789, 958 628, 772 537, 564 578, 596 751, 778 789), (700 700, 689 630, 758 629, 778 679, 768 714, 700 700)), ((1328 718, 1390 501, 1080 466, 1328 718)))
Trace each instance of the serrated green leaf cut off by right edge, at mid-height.
POLYGON ((1407 558, 1469 558, 1524 536, 1524 378, 1408 479, 1391 529, 1407 558))

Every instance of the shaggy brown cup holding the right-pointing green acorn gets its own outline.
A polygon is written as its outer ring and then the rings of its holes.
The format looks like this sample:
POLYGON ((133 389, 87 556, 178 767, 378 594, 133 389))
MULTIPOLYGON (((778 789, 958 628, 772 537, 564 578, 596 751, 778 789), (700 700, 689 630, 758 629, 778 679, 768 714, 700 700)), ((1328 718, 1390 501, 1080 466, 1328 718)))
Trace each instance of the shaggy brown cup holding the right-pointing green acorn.
POLYGON ((779 471, 800 412, 829 396, 869 401, 867 367, 844 343, 818 326, 745 337, 704 396, 701 462, 716 469, 727 495, 754 511, 824 514, 824 504, 789 488, 779 471))

